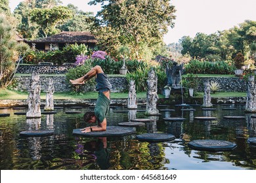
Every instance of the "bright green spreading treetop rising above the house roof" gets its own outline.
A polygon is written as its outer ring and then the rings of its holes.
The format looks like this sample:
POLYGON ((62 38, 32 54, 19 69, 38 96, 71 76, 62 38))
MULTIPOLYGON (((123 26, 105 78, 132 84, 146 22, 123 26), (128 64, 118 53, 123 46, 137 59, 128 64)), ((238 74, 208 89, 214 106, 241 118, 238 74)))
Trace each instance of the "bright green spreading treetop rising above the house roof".
POLYGON ((43 36, 60 32, 56 26, 68 18, 72 17, 71 10, 68 7, 53 7, 49 9, 34 8, 30 14, 31 21, 37 23, 43 31, 43 36))

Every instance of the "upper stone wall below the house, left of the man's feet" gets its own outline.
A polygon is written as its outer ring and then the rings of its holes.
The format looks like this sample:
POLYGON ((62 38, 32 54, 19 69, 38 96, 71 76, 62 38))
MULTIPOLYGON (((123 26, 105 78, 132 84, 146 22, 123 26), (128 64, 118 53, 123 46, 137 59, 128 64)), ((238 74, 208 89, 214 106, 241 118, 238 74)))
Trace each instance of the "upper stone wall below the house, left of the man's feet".
POLYGON ((38 74, 58 75, 68 72, 74 65, 19 65, 16 73, 31 74, 35 71, 38 74))

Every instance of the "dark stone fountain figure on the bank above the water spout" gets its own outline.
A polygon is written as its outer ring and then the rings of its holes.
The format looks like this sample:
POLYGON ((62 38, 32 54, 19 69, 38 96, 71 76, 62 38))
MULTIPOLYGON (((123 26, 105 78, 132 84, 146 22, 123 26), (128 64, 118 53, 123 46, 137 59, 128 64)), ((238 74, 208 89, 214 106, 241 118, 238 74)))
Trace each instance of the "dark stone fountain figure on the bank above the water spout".
POLYGON ((173 62, 173 65, 170 67, 167 65, 166 75, 167 75, 167 85, 174 88, 181 88, 181 74, 183 69, 183 63, 178 65, 177 62, 173 62))

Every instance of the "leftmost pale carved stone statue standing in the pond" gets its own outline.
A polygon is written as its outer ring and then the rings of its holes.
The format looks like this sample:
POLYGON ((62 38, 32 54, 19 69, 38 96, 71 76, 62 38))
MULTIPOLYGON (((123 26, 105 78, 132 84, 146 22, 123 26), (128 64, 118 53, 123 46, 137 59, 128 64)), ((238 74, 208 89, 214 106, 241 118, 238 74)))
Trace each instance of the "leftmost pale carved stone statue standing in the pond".
POLYGON ((28 89, 28 112, 26 113, 27 118, 41 118, 41 83, 39 75, 33 71, 32 78, 30 80, 30 88, 28 89))

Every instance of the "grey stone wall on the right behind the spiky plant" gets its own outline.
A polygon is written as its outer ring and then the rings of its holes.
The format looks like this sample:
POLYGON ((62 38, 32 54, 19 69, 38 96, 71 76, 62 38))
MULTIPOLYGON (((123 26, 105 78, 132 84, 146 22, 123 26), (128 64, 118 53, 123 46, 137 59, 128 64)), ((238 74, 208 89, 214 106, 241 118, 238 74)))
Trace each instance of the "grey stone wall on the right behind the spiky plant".
POLYGON ((216 78, 198 78, 200 84, 198 87, 198 92, 204 91, 203 82, 207 81, 209 79, 209 82, 218 82, 221 86, 221 91, 223 92, 246 92, 247 91, 247 84, 244 79, 239 77, 232 77, 232 78, 226 78, 226 77, 216 77, 216 78))

